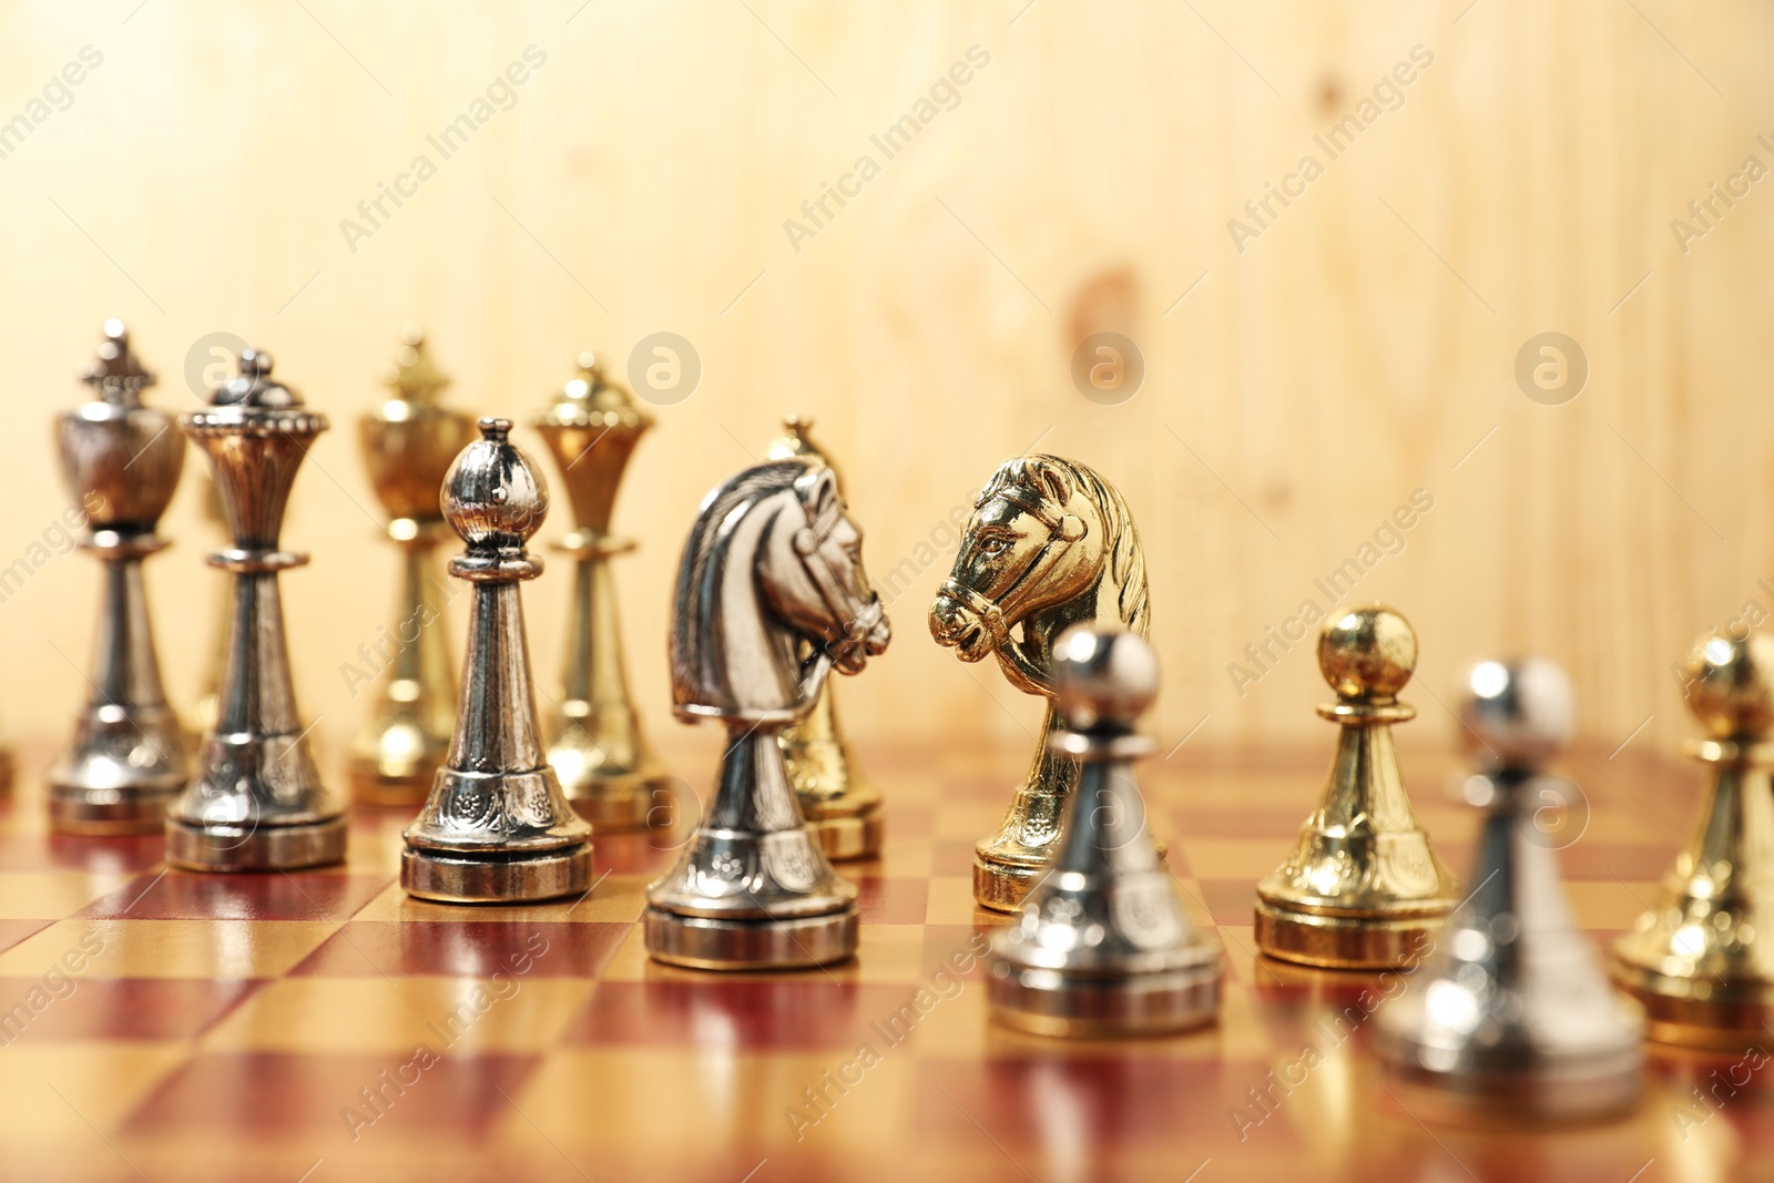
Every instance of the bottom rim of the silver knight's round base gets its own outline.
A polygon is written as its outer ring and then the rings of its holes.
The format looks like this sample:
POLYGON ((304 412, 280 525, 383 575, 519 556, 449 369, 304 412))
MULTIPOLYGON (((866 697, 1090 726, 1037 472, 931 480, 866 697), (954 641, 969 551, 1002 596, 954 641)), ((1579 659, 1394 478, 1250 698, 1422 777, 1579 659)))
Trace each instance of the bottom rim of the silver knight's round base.
POLYGON ((800 970, 857 952, 855 905, 782 921, 713 921, 648 906, 648 952, 697 970, 800 970))

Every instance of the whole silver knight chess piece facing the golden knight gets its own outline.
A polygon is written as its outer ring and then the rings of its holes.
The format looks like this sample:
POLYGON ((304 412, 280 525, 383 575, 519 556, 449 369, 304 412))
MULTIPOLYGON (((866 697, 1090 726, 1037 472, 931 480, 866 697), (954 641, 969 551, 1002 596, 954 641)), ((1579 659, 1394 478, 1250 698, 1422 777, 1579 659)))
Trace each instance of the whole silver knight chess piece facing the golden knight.
POLYGON ((718 720, 727 748, 683 857, 648 889, 656 960, 797 968, 855 952, 857 889, 802 819, 777 734, 889 637, 830 468, 756 465, 703 500, 678 568, 672 702, 718 720))

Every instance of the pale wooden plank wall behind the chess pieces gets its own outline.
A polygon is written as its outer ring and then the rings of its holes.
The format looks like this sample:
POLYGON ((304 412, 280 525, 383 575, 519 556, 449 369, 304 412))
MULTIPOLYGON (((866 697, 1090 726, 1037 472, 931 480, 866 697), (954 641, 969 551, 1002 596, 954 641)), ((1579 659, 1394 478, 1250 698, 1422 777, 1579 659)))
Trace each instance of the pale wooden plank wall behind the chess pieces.
MULTIPOLYGON (((1774 612, 1774 184, 1685 250, 1671 231, 1747 156, 1774 165, 1770 25, 1767 5, 1669 0, 9 4, 0 121, 32 126, 0 158, 0 566, 67 504, 48 420, 82 397, 103 317, 131 325, 169 410, 195 404, 181 371, 206 333, 271 349, 334 417, 298 482, 286 539, 314 564, 286 605, 303 709, 342 754, 365 701, 341 665, 394 610, 353 420, 397 328, 431 332, 458 404, 514 417, 577 349, 624 358, 671 330, 701 385, 658 408, 617 509, 642 539, 623 610, 662 738, 683 532, 800 410, 876 576, 921 568, 892 651, 843 686, 857 733, 1032 727, 993 667, 930 640, 953 543, 928 566, 917 548, 1040 440, 1134 507, 1171 743, 1203 718, 1205 743, 1329 740, 1309 646, 1242 695, 1228 665, 1421 488, 1433 511, 1355 592, 1421 633, 1416 731, 1451 734, 1435 699, 1464 663, 1531 649, 1570 667, 1595 740, 1650 718, 1632 743, 1671 745, 1689 640, 1746 601, 1774 612), (83 46, 101 64, 37 121, 83 46), (527 46, 546 62, 514 105, 440 160, 426 137, 527 46), (797 250, 784 220, 972 46, 990 62, 958 105, 797 250), (1433 62, 1396 110, 1240 252, 1245 200, 1327 160, 1315 137, 1416 46, 1433 62), (341 220, 420 153, 436 176, 353 250, 341 220), (1068 376, 1103 328, 1148 367, 1119 406, 1068 376), (1513 380, 1549 330, 1590 364, 1563 406, 1513 380)), ((218 596, 197 465, 149 576, 181 704, 218 596)), ((562 504, 545 537, 568 529, 562 504)), ((525 592, 546 681, 562 573, 525 592)), ((94 605, 94 564, 60 555, 0 603, 7 733, 66 733, 94 605)))

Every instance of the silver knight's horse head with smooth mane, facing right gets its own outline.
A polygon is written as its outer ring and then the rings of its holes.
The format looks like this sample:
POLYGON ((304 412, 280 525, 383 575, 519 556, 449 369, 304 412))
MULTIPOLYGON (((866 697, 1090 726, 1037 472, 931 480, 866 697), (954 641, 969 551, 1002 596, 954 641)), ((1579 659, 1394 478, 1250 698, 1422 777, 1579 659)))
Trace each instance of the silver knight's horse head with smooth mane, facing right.
POLYGON ((678 568, 671 669, 679 715, 798 718, 832 665, 855 674, 889 637, 862 569, 862 530, 830 468, 757 465, 708 495, 678 568))

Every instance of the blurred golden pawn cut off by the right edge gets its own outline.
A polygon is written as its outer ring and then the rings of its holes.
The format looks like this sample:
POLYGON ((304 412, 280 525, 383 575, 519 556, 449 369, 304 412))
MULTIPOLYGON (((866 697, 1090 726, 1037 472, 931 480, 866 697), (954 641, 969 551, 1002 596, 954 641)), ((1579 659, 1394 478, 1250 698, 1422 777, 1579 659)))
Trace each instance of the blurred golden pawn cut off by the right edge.
POLYGON ((1707 764, 1707 795, 1662 897, 1614 945, 1613 974, 1652 1039, 1740 1052, 1774 1022, 1774 637, 1701 637, 1685 672, 1707 731, 1687 754, 1707 764))

